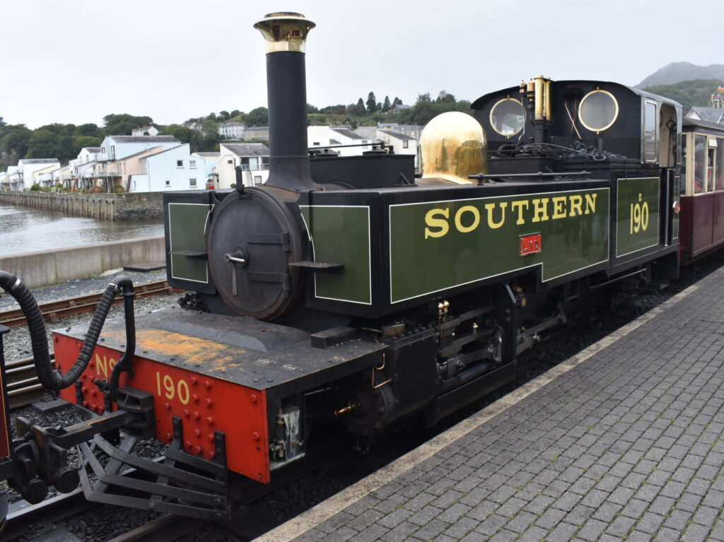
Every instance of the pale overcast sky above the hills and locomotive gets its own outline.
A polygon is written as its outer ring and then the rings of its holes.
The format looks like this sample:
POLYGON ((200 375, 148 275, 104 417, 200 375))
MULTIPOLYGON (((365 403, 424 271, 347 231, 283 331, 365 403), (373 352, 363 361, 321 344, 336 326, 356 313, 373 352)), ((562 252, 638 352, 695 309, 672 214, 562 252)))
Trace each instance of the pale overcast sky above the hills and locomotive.
POLYGON ((281 10, 316 22, 307 101, 320 107, 370 91, 473 101, 539 74, 636 85, 670 62, 724 64, 721 0, 2 0, 0 117, 171 124, 266 106, 253 23, 281 10))

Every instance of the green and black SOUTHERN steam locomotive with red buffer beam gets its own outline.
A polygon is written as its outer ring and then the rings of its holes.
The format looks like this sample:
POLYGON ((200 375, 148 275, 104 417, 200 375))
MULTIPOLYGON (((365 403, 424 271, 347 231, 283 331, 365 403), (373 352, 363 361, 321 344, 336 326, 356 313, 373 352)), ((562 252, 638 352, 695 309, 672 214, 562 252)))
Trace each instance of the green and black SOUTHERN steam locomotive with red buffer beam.
MULTIPOLYGON (((340 427, 363 439, 433 424, 512 380, 518 355, 597 290, 678 276, 675 101, 535 77, 430 122, 416 177, 384 145, 310 156, 314 24, 274 13, 255 27, 269 179, 164 195, 168 280, 192 292, 187 310, 135 316, 121 277, 90 330, 54 332, 56 371, 29 318, 43 384, 83 420, 0 442, 0 475, 26 499, 80 483, 93 501, 228 517, 340 427), (117 292, 126 318, 104 323, 117 292), (149 438, 169 444, 163 462, 131 453, 149 438)), ((34 315, 20 281, 0 286, 34 315)))

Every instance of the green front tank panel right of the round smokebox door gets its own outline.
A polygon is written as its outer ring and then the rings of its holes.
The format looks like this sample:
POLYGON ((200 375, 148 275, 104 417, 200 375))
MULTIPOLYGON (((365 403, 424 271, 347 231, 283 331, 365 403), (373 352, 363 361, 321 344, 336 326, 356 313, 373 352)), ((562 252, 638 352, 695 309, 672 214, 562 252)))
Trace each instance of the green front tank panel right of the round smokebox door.
POLYGON ((369 207, 300 206, 300 211, 312 241, 314 261, 344 266, 342 273, 317 271, 314 295, 369 305, 369 207))

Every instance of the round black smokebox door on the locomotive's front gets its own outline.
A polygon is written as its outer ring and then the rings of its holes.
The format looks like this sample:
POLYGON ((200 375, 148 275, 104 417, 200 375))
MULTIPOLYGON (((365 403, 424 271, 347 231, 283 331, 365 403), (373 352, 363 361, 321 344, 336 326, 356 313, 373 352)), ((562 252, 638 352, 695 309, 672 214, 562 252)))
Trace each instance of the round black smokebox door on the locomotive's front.
POLYGON ((295 192, 247 188, 214 209, 209 228, 209 271, 226 304, 243 316, 282 316, 300 289, 298 226, 286 203, 295 192))

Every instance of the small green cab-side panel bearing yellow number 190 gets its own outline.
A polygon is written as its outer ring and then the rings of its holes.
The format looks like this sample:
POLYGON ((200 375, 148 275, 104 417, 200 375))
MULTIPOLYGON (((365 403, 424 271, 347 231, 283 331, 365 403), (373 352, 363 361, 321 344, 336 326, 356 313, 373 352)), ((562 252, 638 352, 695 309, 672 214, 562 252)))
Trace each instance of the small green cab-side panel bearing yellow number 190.
POLYGON ((616 257, 657 246, 659 178, 617 179, 617 193, 616 257), (638 213, 636 209, 639 210, 638 213))

